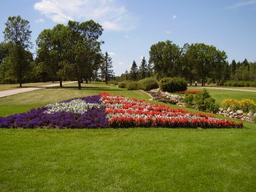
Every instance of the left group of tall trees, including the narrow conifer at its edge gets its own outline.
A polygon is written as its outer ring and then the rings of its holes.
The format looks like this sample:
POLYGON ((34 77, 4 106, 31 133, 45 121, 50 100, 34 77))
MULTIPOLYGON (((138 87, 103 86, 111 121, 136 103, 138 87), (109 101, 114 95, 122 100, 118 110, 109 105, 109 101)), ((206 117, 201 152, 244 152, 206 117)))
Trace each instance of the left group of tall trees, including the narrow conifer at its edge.
POLYGON ((4 42, 0 44, 0 83, 60 81, 81 83, 99 77, 108 83, 114 76, 111 58, 102 54, 99 40, 103 28, 97 22, 68 21, 67 26, 57 24, 44 29, 36 38, 36 57, 29 51, 31 31, 29 21, 20 16, 9 17, 4 29, 4 42), (99 72, 100 70, 100 72, 99 72))

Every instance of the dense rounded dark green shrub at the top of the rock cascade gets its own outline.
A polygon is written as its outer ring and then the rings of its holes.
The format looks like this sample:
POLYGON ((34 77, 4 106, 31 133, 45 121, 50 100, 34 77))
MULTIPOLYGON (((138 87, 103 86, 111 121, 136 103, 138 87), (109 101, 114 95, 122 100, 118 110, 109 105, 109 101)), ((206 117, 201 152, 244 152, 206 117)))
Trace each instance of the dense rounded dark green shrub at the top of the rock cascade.
POLYGON ((182 77, 164 77, 159 81, 160 89, 163 92, 182 92, 188 88, 188 82, 182 77))

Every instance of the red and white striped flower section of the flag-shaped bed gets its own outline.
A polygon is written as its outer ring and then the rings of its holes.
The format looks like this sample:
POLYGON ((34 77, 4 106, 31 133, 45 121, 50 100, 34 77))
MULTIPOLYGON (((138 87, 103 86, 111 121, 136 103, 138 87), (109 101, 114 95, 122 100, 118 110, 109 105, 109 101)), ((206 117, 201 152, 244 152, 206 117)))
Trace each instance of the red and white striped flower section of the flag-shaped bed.
POLYGON ((145 100, 128 99, 109 93, 100 93, 100 97, 106 104, 110 127, 243 127, 243 122, 237 124, 229 120, 220 120, 214 115, 170 109, 169 106, 149 104, 145 100))

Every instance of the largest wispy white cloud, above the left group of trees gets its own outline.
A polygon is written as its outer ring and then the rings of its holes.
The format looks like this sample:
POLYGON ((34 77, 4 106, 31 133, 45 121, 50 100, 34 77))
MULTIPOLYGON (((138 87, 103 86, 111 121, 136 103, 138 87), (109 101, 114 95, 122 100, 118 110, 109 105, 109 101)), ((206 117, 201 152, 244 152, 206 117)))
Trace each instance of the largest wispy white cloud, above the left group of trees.
POLYGON ((40 0, 34 4, 35 10, 54 22, 68 20, 95 20, 104 29, 128 31, 136 26, 136 18, 116 0, 40 0))

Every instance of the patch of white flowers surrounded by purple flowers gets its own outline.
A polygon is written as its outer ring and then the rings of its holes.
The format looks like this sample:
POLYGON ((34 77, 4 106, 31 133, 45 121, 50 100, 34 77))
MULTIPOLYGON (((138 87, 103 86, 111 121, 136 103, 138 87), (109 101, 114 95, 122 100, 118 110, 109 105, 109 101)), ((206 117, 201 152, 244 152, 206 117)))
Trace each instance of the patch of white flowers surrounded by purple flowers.
POLYGON ((79 113, 83 114, 87 111, 87 109, 99 109, 103 107, 104 104, 93 104, 85 102, 81 99, 74 99, 70 102, 61 102, 49 104, 46 107, 48 108, 44 113, 52 114, 61 111, 67 111, 68 113, 79 113))

